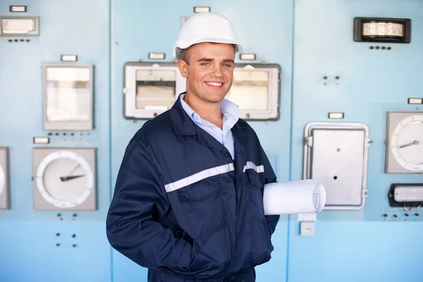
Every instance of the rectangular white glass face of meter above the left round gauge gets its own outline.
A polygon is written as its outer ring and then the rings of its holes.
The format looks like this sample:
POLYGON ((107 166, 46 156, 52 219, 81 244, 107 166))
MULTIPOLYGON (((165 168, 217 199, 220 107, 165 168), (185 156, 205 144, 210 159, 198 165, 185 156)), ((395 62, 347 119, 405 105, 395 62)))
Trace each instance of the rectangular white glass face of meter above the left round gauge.
POLYGON ((90 70, 47 69, 47 121, 90 121, 90 70))

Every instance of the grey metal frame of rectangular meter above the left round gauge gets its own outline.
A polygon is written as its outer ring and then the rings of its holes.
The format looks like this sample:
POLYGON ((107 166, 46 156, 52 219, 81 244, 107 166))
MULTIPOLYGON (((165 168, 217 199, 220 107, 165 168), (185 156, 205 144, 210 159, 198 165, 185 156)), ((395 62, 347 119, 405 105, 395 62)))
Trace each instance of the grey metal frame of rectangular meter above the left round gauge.
POLYGON ((45 130, 92 130, 94 127, 94 66, 80 63, 46 63, 43 66, 43 116, 45 130), (90 70, 90 121, 47 121, 47 68, 87 68, 90 70))

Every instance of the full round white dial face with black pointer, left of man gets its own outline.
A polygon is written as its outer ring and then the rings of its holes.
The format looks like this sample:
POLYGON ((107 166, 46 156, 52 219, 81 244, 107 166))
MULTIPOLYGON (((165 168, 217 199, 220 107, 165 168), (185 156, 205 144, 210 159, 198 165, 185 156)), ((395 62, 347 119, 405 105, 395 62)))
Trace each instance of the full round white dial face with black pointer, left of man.
POLYGON ((69 208, 82 204, 93 187, 90 165, 74 152, 51 153, 38 166, 39 193, 55 207, 69 208))

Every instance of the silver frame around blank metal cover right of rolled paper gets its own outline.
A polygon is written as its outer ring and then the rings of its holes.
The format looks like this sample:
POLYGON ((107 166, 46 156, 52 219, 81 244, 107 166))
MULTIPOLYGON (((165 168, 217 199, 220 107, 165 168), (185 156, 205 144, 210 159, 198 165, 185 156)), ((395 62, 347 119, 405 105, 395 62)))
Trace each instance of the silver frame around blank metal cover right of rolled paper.
POLYGON ((368 166, 368 151, 370 146, 369 128, 364 123, 330 123, 330 122, 310 122, 305 126, 305 142, 304 142, 304 159, 303 159, 303 179, 309 179, 312 173, 312 130, 313 129, 331 129, 331 130, 364 130, 364 155, 363 155, 363 171, 362 171, 362 204, 360 206, 329 206, 324 207, 324 210, 360 210, 366 204, 368 194, 367 190, 367 166, 368 166), (311 146, 310 146, 311 144, 311 146))

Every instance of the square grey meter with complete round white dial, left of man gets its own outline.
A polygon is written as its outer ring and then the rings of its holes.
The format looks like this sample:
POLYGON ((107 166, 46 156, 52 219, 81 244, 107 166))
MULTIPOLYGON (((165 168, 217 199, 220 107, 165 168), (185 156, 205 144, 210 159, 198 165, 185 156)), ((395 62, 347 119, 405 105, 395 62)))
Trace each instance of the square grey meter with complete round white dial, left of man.
POLYGON ((97 209, 95 152, 95 148, 33 148, 34 208, 97 209))

